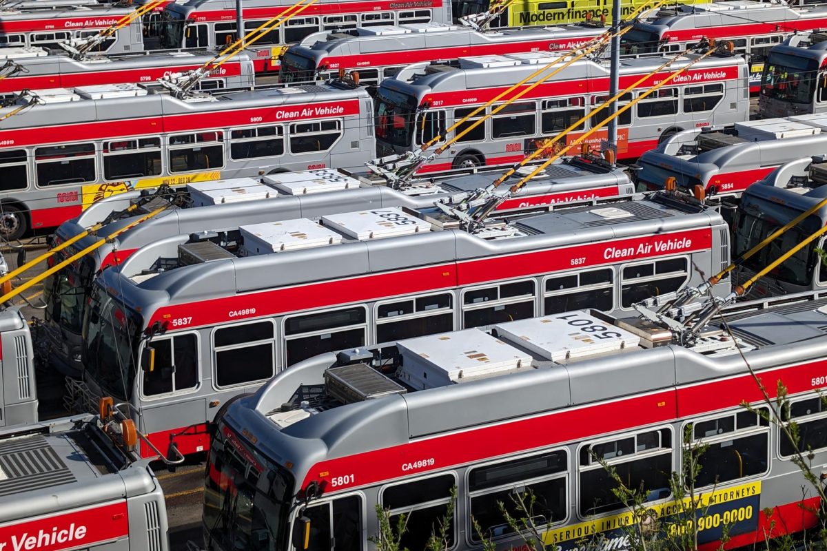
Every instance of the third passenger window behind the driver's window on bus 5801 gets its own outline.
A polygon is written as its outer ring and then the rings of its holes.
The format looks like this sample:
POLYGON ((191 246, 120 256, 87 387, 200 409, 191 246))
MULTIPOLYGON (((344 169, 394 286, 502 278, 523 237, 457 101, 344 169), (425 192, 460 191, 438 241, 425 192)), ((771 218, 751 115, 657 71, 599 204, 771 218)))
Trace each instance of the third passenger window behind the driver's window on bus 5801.
POLYGON ((648 430, 587 444, 580 449, 579 463, 581 516, 626 508, 612 492, 618 485, 606 466, 626 487, 648 492, 646 501, 666 499, 672 495, 672 430, 648 430))

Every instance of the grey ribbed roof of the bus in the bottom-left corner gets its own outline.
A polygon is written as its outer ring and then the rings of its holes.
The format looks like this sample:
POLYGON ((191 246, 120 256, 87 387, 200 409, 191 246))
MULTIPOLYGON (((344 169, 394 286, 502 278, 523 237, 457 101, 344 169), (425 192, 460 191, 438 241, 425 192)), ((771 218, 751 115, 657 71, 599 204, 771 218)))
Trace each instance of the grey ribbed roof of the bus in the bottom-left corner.
POLYGON ((155 489, 148 462, 112 443, 93 416, 0 431, 0 522, 31 519, 155 489))

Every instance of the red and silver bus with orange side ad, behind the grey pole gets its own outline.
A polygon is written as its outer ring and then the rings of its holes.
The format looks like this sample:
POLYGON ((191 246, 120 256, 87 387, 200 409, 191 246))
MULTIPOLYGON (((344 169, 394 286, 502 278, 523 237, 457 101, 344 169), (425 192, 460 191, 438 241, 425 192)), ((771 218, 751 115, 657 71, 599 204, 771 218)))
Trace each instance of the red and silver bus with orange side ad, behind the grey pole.
MULTIPOLYGON (((696 59, 687 55, 672 64, 680 69, 696 59)), ((394 78, 380 83, 376 93, 376 141, 379 156, 418 151, 442 129, 531 74, 555 56, 552 54, 511 54, 462 58, 459 67, 433 64, 423 69, 403 69, 394 78), (418 72, 421 71, 421 72, 418 72), (424 73, 424 74, 423 74, 424 73)), ((659 57, 627 59, 620 67, 620 88, 655 71, 664 62, 659 57)), ((639 91, 621 97, 620 106, 630 102, 669 74, 662 71, 638 85, 639 91)), ((507 102, 523 87, 503 97, 507 102)), ((712 55, 701 59, 676 78, 675 85, 661 88, 619 116, 619 159, 638 157, 661 140, 688 128, 726 126, 748 119, 748 65, 740 55, 712 55)), ((483 165, 514 164, 536 148, 536 142, 550 138, 571 126, 586 113, 600 107, 609 95, 609 64, 581 59, 490 116, 452 147, 423 165, 420 173, 483 165)), ((495 106, 487 107, 485 112, 495 106)), ((566 135, 562 145, 571 143, 582 131, 599 124, 608 110, 591 117, 581 128, 566 135)), ((457 127, 463 131, 484 112, 457 127)), ((591 145, 605 140, 607 131, 590 136, 591 145)), ((447 136, 452 138, 452 136, 447 136)))

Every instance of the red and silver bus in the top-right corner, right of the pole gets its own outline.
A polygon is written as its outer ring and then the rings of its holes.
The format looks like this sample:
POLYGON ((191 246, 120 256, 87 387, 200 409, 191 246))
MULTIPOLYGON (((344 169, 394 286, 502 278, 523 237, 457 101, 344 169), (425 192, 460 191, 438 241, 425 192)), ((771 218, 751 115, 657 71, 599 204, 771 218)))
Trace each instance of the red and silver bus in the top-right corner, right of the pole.
POLYGON ((623 55, 674 55, 703 38, 729 40, 750 64, 750 92, 758 92, 769 50, 796 31, 827 26, 827 7, 725 0, 665 7, 635 23, 621 39, 623 55))

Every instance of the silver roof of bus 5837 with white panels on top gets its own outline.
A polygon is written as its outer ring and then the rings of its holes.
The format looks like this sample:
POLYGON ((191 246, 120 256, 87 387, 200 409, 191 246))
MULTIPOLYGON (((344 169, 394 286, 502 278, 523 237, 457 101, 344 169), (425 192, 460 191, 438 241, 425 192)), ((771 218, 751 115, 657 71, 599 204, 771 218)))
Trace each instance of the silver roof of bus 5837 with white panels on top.
MULTIPOLYGON (((667 249, 676 253, 708 249, 711 229, 723 224, 715 210, 666 196, 617 203, 611 207, 572 207, 531 216, 497 225, 490 235, 457 229, 452 219, 446 220, 430 211, 405 212, 393 207, 390 210, 399 219, 407 220, 399 227, 412 229, 409 234, 385 236, 387 224, 382 213, 351 211, 323 216, 321 221, 270 222, 270 226, 279 226, 276 229, 256 227, 260 225, 238 226, 243 236, 243 246, 238 254, 212 242, 193 242, 189 234, 174 235, 139 249, 119 268, 105 270, 97 283, 118 293, 119 300, 127 306, 140 309, 147 323, 151 324, 152 312, 157 314, 163 306, 370 273, 456 263, 457 280, 473 280, 480 274, 465 274, 462 263, 554 247, 596 244, 597 249, 605 251, 595 253, 595 262, 605 264, 610 259, 638 258, 635 254, 627 255, 627 249, 616 251, 615 248, 621 245, 614 241, 639 239, 643 235, 651 235, 657 240, 660 247, 657 250, 672 247, 678 241, 677 249, 667 249), (356 220, 363 221, 359 231, 354 229, 356 220), (327 239, 302 246, 307 241, 303 243, 301 239, 297 241, 289 237, 306 233, 308 224, 320 226, 327 239), (297 229, 291 230, 294 225, 297 229), (284 230, 288 236, 270 239, 265 235, 275 230, 284 230), (265 243, 261 243, 262 240, 265 243), (163 267, 159 265, 160 259, 165 259, 163 267)), ((652 249, 647 251, 652 252, 652 249)), ((641 258, 646 258, 646 254, 641 258)), ((540 264, 533 268, 536 268, 535 272, 544 271, 540 264)), ((469 264, 467 269, 475 268, 469 264)), ((488 269, 498 271, 493 267, 488 269)), ((488 275, 491 278, 507 277, 504 273, 488 275)), ((445 284, 448 283, 445 280, 445 284)), ((203 324, 193 321, 193 325, 203 324)))

